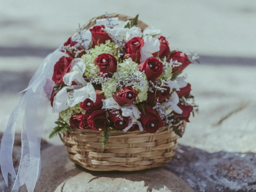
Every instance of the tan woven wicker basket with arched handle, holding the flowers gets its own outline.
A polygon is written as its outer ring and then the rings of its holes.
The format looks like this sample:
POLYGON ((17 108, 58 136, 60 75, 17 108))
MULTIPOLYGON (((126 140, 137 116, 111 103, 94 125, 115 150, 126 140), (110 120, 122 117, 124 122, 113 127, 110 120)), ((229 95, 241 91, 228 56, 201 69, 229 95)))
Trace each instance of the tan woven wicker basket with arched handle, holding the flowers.
MULTIPOLYGON (((121 14, 110 14, 119 20, 132 19, 121 14)), ((96 19, 93 18, 83 28, 92 27, 96 19)), ((139 21, 142 29, 147 25, 139 21)), ((184 129, 186 122, 180 128, 184 129)), ((172 160, 177 148, 177 136, 168 127, 160 128, 156 133, 132 131, 111 131, 107 149, 102 148, 102 132, 92 129, 73 129, 60 135, 65 144, 70 160, 76 164, 94 171, 136 171, 162 166, 172 160)))

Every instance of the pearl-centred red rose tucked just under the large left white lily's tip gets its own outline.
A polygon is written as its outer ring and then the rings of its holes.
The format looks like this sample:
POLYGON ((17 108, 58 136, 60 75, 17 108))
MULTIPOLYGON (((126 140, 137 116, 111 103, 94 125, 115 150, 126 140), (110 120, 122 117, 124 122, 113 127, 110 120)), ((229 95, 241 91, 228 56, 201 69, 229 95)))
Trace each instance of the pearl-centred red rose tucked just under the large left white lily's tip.
POLYGON ((102 90, 96 90, 95 102, 87 98, 86 100, 84 100, 84 102, 80 103, 80 107, 88 112, 93 112, 95 110, 101 109, 103 105, 102 99, 105 99, 105 96, 104 94, 100 94, 100 92, 102 92, 102 90))

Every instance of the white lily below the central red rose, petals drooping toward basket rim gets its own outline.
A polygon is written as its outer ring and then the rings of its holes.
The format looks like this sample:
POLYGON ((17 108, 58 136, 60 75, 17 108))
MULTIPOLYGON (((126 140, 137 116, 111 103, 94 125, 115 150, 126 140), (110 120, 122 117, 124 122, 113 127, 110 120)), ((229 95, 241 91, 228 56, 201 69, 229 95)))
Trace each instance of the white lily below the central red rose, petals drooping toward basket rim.
POLYGON ((102 109, 117 109, 122 111, 122 116, 129 117, 129 124, 126 128, 124 128, 124 132, 128 131, 133 124, 138 124, 141 131, 143 131, 143 127, 141 123, 138 121, 140 118, 140 111, 134 104, 130 104, 128 106, 120 106, 114 98, 108 98, 102 100, 103 106, 102 109))

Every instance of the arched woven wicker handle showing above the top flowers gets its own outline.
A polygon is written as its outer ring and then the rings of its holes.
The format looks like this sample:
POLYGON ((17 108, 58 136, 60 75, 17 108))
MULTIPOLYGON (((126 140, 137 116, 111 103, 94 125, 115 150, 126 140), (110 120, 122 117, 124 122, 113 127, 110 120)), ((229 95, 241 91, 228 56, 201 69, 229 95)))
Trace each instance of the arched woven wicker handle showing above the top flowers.
MULTIPOLYGON (((130 16, 126 16, 126 15, 123 15, 123 14, 117 14, 117 13, 111 13, 111 14, 108 14, 108 15, 109 15, 109 17, 118 17, 118 19, 122 20, 122 21, 133 19, 130 16)), ((106 18, 106 15, 101 15, 101 16, 98 16, 98 17, 94 17, 87 24, 85 24, 82 28, 83 29, 89 29, 89 28, 91 28, 92 26, 94 26, 96 24, 96 19, 103 19, 103 18, 106 18)), ((144 30, 146 27, 148 27, 148 25, 145 24, 144 22, 138 20, 138 27, 140 27, 142 30, 144 30)))

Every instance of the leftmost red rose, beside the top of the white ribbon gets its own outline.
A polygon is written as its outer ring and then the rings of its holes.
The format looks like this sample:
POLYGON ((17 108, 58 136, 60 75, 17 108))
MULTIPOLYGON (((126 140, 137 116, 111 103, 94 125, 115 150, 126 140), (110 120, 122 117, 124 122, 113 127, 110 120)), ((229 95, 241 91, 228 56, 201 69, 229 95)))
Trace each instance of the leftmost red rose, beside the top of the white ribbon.
POLYGON ((63 83, 63 76, 70 72, 70 65, 73 59, 71 57, 62 56, 60 60, 54 65, 54 72, 52 75, 52 80, 55 84, 63 83))

